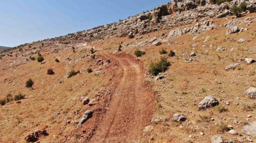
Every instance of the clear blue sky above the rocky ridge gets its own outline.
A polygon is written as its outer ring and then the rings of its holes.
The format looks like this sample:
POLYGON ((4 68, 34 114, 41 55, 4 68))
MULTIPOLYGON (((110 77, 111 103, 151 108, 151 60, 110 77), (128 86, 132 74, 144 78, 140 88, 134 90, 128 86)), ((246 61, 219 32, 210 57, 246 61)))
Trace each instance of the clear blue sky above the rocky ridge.
POLYGON ((0 0, 0 46, 63 36, 118 22, 170 0, 0 0))

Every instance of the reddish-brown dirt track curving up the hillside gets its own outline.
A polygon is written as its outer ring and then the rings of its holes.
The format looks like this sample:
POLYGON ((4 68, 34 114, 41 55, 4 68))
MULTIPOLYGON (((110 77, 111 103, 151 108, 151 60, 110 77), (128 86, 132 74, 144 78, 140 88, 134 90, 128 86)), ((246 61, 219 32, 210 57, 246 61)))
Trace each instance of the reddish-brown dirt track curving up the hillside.
POLYGON ((141 142, 142 131, 154 112, 153 95, 144 88, 141 68, 134 60, 100 51, 119 61, 123 76, 110 101, 109 110, 89 142, 141 142))

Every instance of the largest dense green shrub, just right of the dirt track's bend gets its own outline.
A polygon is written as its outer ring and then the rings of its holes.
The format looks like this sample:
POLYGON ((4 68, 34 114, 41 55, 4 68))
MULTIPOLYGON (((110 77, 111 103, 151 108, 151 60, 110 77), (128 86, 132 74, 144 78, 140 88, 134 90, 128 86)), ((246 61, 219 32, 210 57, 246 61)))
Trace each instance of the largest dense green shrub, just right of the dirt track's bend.
POLYGON ((167 58, 161 57, 159 62, 150 64, 149 73, 156 76, 158 73, 165 72, 169 66, 171 66, 171 63, 167 61, 167 58))

